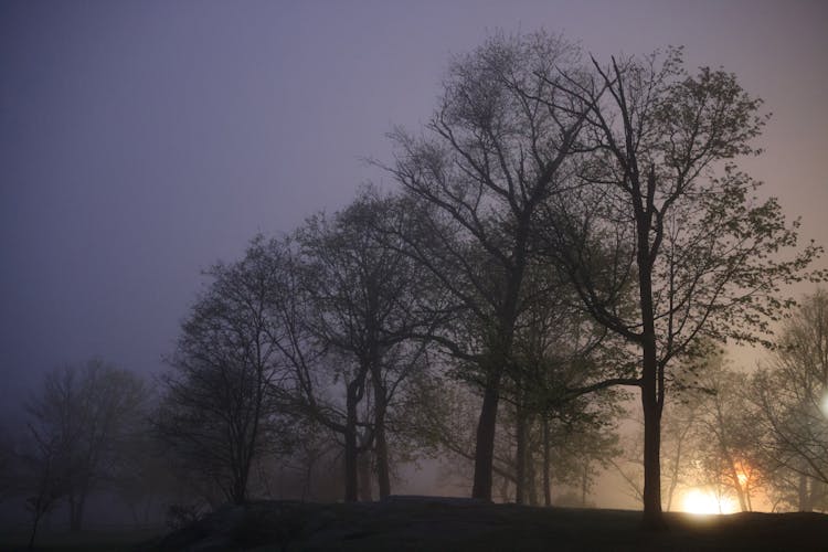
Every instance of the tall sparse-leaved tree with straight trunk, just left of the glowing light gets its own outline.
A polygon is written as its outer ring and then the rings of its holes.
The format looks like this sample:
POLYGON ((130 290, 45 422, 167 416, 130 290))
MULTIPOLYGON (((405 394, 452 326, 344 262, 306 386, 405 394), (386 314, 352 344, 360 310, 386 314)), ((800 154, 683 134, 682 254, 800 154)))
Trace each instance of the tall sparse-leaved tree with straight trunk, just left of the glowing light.
POLYGON ((765 121, 734 75, 690 75, 670 50, 593 60, 591 81, 575 72, 549 83, 587 106, 578 138, 588 153, 580 185, 545 202, 541 229, 584 307, 640 354, 644 516, 657 529, 668 367, 702 337, 758 339, 784 305, 779 286, 807 277, 820 250, 795 250, 797 224, 733 162, 758 152, 750 142, 765 121))

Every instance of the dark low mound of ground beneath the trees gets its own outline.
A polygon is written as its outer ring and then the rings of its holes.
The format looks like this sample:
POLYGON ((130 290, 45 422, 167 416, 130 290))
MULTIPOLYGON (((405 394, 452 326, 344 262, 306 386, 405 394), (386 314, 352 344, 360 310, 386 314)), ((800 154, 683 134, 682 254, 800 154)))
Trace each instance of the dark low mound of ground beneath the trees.
POLYGON ((640 513, 400 497, 385 502, 255 502, 225 507, 137 550, 566 551, 828 550, 820 513, 668 513, 665 533, 640 513))

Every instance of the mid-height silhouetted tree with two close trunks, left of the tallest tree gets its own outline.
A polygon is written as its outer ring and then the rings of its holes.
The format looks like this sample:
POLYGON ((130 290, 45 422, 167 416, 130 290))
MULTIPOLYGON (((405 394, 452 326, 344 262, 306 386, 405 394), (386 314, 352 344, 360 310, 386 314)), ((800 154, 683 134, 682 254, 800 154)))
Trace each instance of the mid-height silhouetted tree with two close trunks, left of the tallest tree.
MULTIPOLYGON (((421 267, 400 243, 390 243, 391 232, 382 231, 383 225, 404 222, 395 217, 392 201, 367 190, 332 219, 309 219, 296 234, 301 289, 283 294, 288 301, 306 301, 299 322, 323 351, 316 367, 306 363, 302 369, 307 357, 299 359, 296 349, 288 358, 299 360, 297 389, 308 412, 343 436, 346 500, 357 499, 359 456, 368 450, 374 453, 380 497, 391 492, 388 416, 397 391, 424 367, 425 342, 417 336, 433 325, 431 311, 422 306, 429 290, 421 267), (336 401, 321 406, 321 397, 315 396, 321 390, 309 384, 314 376, 333 385, 341 379, 343 412, 336 401)), ((290 323, 286 317, 284 327, 290 323)), ((287 343, 286 350, 298 341, 287 343)))

